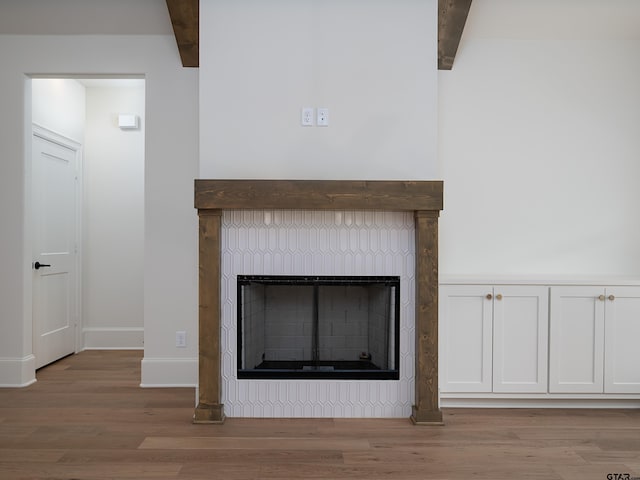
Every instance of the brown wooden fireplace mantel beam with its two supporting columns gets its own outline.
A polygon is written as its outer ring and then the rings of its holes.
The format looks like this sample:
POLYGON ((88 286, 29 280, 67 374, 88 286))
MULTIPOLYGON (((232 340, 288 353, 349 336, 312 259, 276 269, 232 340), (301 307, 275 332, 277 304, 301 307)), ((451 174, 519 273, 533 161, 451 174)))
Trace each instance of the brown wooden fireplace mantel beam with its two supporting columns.
POLYGON ((438 399, 438 216, 442 181, 196 180, 199 234, 198 406, 194 423, 224 422, 221 376, 223 210, 413 211, 415 404, 411 421, 442 424, 438 399))

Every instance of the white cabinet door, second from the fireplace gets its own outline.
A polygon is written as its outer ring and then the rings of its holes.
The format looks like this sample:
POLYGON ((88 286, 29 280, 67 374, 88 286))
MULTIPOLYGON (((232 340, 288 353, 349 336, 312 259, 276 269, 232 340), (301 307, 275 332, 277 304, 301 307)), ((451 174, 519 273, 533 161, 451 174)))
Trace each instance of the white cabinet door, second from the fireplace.
POLYGON ((509 285, 493 290, 493 391, 546 393, 548 287, 509 285))

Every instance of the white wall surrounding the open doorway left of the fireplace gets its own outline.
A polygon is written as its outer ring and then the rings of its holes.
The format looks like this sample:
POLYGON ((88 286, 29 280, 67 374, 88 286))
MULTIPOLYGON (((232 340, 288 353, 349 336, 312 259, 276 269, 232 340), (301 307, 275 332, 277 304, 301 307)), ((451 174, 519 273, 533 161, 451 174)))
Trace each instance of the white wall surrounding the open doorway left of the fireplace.
POLYGON ((30 172, 25 146, 31 124, 27 75, 60 72, 145 76, 142 382, 195 384, 197 70, 182 68, 172 35, 0 35, 0 61, 0 385, 34 378, 31 239, 24 222, 30 172), (187 348, 175 347, 176 330, 187 331, 187 348))

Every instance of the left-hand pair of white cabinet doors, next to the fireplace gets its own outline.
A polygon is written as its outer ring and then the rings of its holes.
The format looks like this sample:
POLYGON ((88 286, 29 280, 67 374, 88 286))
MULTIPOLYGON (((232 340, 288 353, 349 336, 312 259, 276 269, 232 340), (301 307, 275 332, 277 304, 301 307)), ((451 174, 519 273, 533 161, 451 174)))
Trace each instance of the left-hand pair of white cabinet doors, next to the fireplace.
POLYGON ((441 392, 547 391, 548 288, 440 286, 441 392))

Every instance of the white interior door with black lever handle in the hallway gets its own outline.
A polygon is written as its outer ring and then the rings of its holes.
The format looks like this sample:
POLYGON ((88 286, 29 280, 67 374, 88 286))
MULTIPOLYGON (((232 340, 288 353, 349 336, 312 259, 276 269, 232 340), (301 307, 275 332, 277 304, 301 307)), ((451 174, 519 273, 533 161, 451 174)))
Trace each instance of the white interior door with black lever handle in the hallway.
POLYGON ((33 353, 36 368, 76 349, 79 153, 77 143, 34 126, 33 353))

